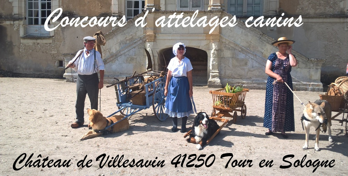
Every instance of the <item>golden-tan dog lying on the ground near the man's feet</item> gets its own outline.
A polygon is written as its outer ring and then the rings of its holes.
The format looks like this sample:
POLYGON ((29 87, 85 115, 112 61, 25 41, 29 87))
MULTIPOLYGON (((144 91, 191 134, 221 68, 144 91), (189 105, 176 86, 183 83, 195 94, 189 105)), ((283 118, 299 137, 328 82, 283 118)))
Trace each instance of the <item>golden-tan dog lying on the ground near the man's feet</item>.
MULTIPOLYGON (((105 129, 105 127, 111 125, 112 123, 115 123, 124 118, 123 115, 113 115, 109 118, 106 118, 103 116, 103 114, 100 111, 97 111, 94 109, 87 109, 87 113, 89 115, 90 127, 92 127, 92 130, 88 131, 88 133, 82 136, 82 138, 80 139, 81 141, 102 135, 103 132, 102 133, 97 133, 97 132, 105 129)), ((106 129, 108 130, 106 132, 117 133, 127 129, 129 129, 129 121, 126 118, 116 123, 114 126, 106 129)))

